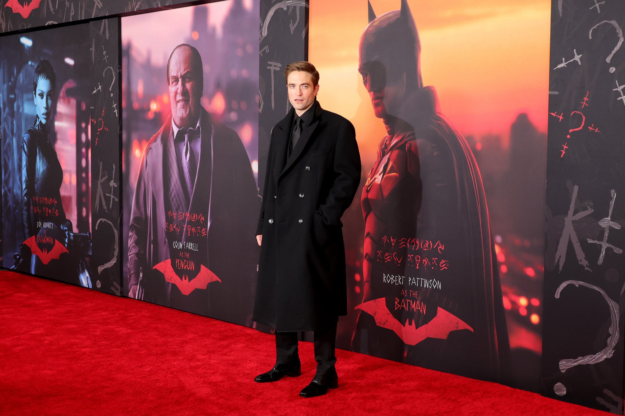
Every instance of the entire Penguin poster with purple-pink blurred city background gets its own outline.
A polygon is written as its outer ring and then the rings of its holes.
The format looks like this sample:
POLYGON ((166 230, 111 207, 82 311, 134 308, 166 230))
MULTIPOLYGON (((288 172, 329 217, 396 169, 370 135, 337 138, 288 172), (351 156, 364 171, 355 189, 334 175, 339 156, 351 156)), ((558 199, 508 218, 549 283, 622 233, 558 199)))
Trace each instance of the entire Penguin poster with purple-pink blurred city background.
POLYGON ((259 252, 258 20, 256 2, 235 0, 122 18, 126 293, 244 325, 259 252))

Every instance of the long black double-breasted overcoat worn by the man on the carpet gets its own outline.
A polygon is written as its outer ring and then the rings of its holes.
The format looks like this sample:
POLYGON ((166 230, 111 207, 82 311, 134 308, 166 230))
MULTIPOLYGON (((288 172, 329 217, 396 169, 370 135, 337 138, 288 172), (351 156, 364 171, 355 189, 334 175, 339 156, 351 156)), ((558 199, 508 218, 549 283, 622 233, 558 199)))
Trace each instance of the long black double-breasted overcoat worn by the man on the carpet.
POLYGON ((279 332, 321 330, 347 314, 341 216, 361 176, 354 126, 314 103, 287 160, 295 111, 271 131, 253 319, 279 332))

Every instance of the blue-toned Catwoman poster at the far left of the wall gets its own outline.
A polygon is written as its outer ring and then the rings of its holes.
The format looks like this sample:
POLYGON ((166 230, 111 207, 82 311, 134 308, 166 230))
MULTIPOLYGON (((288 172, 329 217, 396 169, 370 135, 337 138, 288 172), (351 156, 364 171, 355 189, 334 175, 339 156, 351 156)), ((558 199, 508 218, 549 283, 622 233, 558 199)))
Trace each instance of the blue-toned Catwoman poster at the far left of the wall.
POLYGON ((89 24, 0 38, 2 265, 91 287, 89 24))

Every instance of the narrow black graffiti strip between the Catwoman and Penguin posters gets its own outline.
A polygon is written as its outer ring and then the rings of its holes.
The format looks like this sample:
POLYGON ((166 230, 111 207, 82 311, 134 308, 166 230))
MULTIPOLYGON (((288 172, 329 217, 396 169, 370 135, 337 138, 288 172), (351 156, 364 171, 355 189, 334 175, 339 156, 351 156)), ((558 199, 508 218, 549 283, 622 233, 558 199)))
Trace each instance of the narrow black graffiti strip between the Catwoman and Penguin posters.
POLYGON ((120 19, 90 23, 91 31, 91 189, 94 289, 119 295, 121 132, 120 19))

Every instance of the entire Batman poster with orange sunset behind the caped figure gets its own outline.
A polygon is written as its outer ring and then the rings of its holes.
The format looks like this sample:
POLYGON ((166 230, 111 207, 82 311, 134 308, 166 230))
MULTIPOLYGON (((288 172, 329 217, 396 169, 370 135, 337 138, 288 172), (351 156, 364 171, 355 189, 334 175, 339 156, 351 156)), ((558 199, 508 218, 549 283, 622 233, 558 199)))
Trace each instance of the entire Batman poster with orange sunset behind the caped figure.
POLYGON ((317 97, 362 159, 337 345, 537 391, 549 9, 464 7, 311 7, 317 97))

